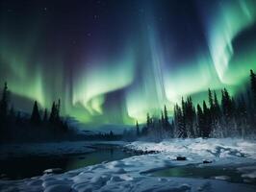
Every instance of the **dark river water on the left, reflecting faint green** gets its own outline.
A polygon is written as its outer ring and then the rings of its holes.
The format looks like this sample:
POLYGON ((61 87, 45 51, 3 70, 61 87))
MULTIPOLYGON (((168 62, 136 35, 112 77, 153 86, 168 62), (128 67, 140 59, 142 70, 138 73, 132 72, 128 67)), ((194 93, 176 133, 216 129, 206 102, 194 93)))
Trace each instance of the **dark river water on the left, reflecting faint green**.
POLYGON ((62 168, 69 171, 103 161, 133 156, 116 145, 94 145, 95 152, 74 156, 24 156, 0 160, 2 179, 19 180, 39 176, 45 169, 62 168))

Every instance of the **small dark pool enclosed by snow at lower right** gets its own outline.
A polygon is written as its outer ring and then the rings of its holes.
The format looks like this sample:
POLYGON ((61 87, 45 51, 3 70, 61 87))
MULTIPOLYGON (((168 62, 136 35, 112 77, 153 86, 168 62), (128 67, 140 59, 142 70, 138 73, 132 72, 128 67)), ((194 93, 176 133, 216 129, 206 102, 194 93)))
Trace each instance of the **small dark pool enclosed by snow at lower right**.
POLYGON ((177 177, 177 178, 198 178, 198 179, 215 179, 226 180, 230 182, 256 184, 255 179, 245 179, 243 173, 239 172, 236 167, 220 166, 177 166, 158 170, 149 173, 153 177, 177 177))

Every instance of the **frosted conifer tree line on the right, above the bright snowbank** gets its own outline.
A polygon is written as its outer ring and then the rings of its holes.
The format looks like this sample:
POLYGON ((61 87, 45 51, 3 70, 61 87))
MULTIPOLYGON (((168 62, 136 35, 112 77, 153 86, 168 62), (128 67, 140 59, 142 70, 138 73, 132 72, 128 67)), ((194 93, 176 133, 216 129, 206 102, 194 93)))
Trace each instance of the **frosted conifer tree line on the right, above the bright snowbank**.
POLYGON ((174 106, 172 118, 168 118, 166 106, 160 118, 146 115, 146 124, 141 128, 136 123, 138 136, 168 137, 228 137, 253 136, 256 133, 256 75, 250 70, 248 88, 232 97, 226 88, 220 90, 218 101, 216 90, 208 89, 208 101, 202 106, 192 103, 192 97, 182 98, 174 106))

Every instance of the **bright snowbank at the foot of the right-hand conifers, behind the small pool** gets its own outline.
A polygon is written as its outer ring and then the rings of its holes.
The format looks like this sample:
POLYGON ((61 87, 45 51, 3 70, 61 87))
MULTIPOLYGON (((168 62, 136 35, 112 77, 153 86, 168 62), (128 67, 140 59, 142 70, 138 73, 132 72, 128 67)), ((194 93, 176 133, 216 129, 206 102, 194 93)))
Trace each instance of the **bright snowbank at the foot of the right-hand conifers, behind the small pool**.
POLYGON ((175 156, 187 156, 190 160, 202 160, 204 158, 230 161, 249 157, 256 159, 256 141, 248 141, 235 138, 209 138, 209 139, 171 139, 160 143, 136 141, 125 146, 135 151, 161 152, 174 158, 175 156))

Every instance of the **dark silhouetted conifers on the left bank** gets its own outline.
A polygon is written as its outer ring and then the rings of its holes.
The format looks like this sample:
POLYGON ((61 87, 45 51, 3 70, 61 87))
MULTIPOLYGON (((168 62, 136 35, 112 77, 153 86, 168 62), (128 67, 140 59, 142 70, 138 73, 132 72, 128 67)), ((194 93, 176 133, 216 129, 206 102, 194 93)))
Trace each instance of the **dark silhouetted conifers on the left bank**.
POLYGON ((38 102, 34 102, 31 115, 16 111, 11 107, 11 91, 4 84, 0 100, 0 140, 47 140, 67 136, 69 128, 61 117, 61 100, 53 102, 50 113, 47 108, 41 112, 38 102))

